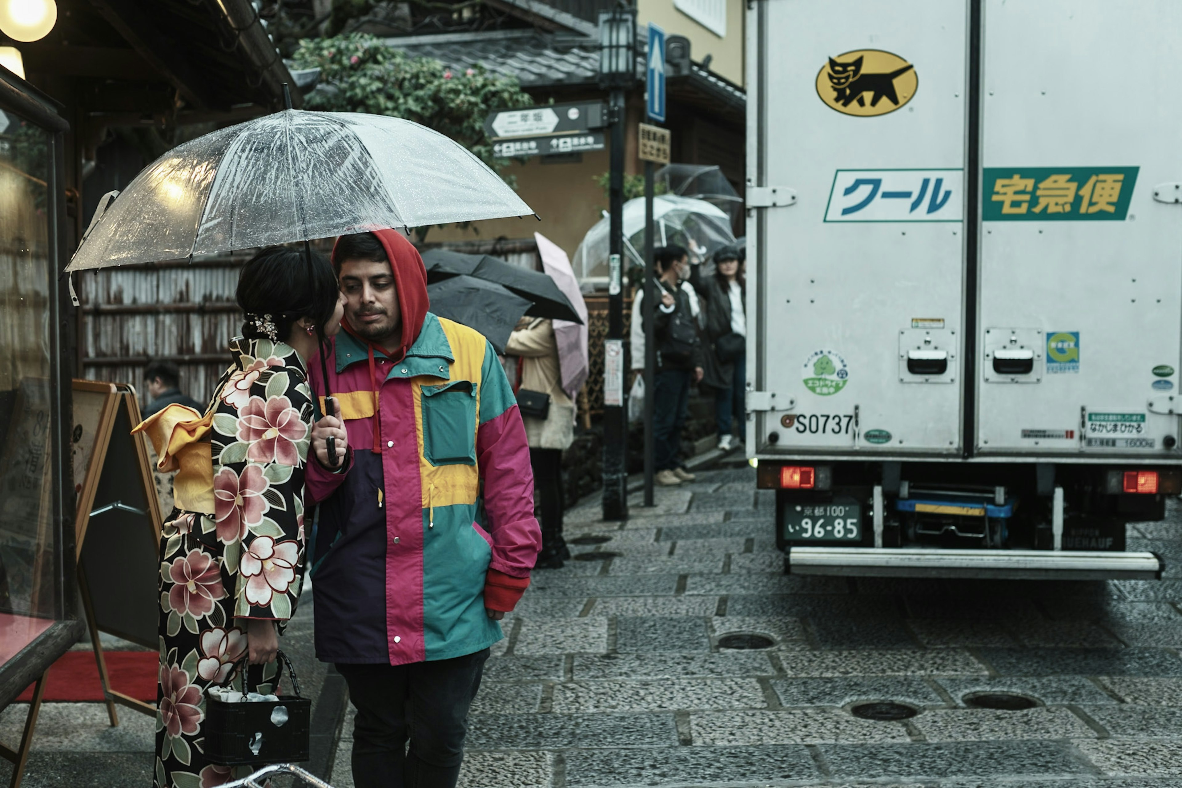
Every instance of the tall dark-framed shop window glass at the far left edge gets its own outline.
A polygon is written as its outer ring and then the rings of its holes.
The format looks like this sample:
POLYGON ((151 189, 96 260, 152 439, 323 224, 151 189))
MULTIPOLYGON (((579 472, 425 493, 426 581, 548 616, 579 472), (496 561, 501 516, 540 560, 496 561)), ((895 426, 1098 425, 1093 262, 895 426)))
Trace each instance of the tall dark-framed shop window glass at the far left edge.
POLYGON ((0 664, 53 622, 50 134, 0 110, 0 664))

